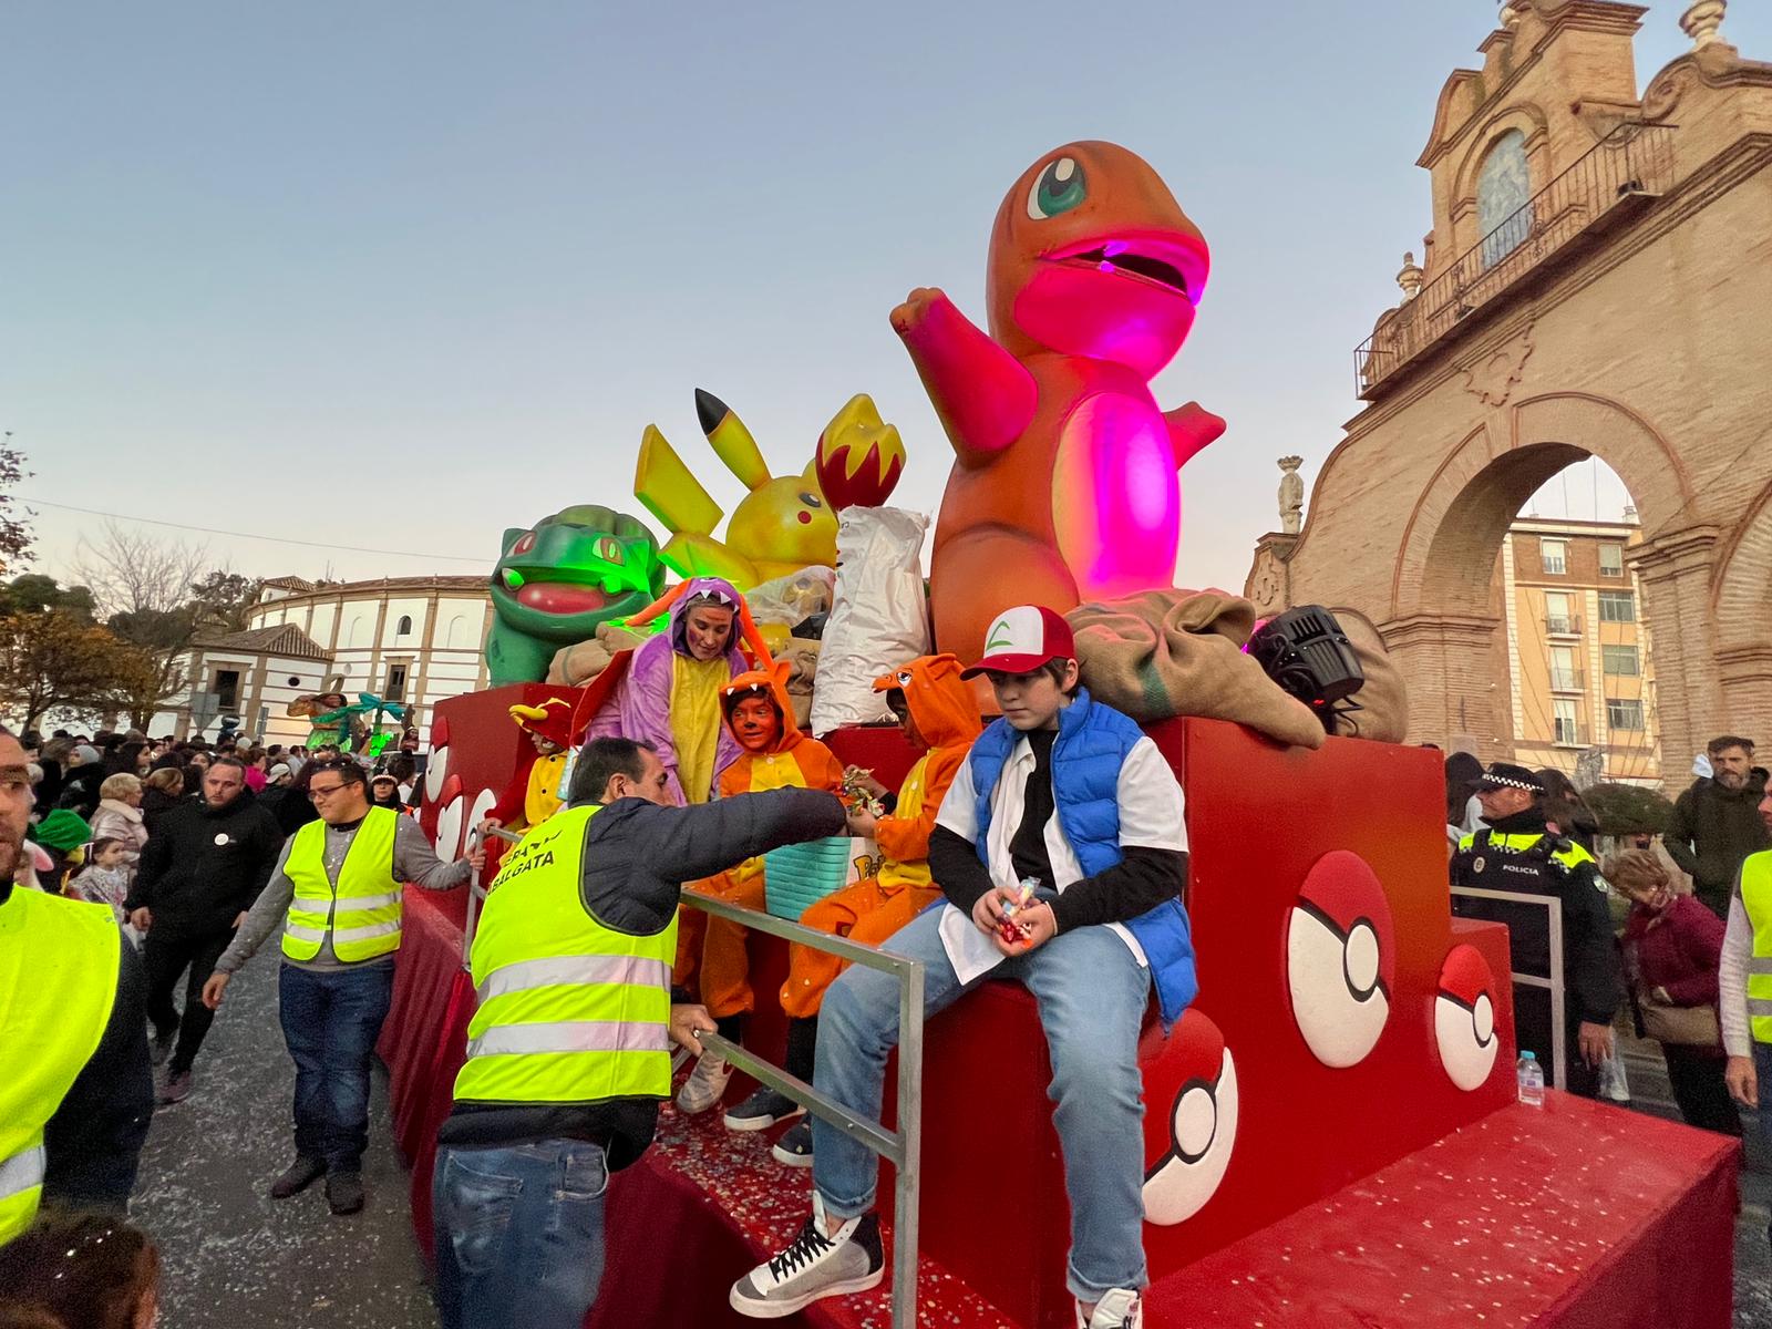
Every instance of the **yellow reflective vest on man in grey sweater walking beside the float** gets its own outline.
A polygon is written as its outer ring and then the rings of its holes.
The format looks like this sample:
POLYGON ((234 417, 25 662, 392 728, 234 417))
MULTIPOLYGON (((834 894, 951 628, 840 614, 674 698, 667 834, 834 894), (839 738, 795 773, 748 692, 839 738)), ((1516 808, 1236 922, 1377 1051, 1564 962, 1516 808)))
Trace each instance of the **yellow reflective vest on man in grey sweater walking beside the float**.
POLYGON ((393 836, 400 815, 370 808, 351 836, 337 884, 326 875, 326 822, 296 831, 284 861, 294 884, 284 920, 284 955, 312 960, 326 930, 333 955, 347 964, 372 960, 400 948, 402 886, 393 877, 393 836))

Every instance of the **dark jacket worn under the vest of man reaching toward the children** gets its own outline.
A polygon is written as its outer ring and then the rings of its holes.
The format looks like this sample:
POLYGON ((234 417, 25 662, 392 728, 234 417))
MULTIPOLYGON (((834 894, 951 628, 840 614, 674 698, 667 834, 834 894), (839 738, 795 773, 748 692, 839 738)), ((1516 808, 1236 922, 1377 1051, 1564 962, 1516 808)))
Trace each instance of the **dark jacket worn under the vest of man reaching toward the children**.
MULTIPOLYGON (((688 808, 622 799, 585 828, 579 900, 608 929, 654 936, 677 916, 682 882, 780 845, 842 831, 842 801, 813 789, 735 794, 688 808)), ((608 1146, 613 1171, 647 1152, 657 1109, 657 1099, 558 1106, 457 1102, 438 1131, 438 1143, 501 1148, 537 1139, 594 1139, 608 1146)))

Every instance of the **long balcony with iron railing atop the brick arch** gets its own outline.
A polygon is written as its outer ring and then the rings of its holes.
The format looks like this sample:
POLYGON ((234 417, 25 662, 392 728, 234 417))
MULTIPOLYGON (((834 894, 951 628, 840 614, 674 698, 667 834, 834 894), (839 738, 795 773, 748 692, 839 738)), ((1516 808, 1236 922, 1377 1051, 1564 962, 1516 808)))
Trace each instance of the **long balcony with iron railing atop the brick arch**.
POLYGON ((1354 351, 1354 392, 1375 400, 1380 385, 1421 353, 1476 323, 1545 259, 1591 241, 1673 184, 1671 124, 1621 124, 1501 225, 1465 250, 1414 299, 1386 315, 1354 351))

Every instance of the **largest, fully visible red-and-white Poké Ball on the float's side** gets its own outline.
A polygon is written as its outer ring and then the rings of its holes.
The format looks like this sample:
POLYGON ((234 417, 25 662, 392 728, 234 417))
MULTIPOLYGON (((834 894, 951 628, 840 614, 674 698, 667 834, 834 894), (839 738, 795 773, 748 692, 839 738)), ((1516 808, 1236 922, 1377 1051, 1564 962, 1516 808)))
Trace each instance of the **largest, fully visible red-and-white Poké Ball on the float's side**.
POLYGON ((1359 1065, 1391 1017, 1396 930, 1377 874, 1345 849, 1304 877, 1286 929, 1292 1019, 1325 1067, 1359 1065))

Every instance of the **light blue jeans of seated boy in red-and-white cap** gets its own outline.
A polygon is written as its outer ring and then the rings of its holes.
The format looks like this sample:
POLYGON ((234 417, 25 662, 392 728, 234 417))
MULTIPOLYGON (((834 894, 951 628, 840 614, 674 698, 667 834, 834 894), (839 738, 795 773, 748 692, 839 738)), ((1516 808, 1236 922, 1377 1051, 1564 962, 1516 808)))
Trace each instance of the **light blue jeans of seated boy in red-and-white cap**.
MULTIPOLYGON (((941 909, 886 939, 882 950, 921 960, 923 1017, 966 991, 941 946, 941 909)), ((969 927, 969 925, 968 925, 969 927)), ((1072 1295, 1099 1301, 1109 1288, 1145 1286, 1145 1106, 1138 1035, 1150 999, 1150 971, 1106 927, 1081 927, 1028 955, 1003 960, 987 978, 1017 978, 1040 1005, 1053 1058, 1047 1097, 1065 1155, 1070 1193, 1072 1295)), ((975 980, 971 987, 985 982, 975 980)), ((824 996, 813 1084, 879 1120, 886 1054, 898 1042, 898 982, 851 966, 824 996)), ((854 1217, 874 1207, 879 1157, 822 1120, 812 1123, 812 1180, 826 1212, 854 1217)))

